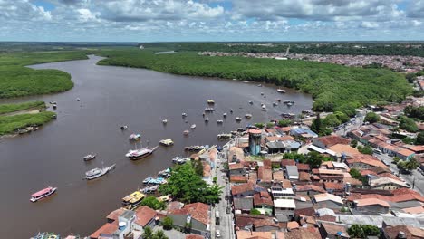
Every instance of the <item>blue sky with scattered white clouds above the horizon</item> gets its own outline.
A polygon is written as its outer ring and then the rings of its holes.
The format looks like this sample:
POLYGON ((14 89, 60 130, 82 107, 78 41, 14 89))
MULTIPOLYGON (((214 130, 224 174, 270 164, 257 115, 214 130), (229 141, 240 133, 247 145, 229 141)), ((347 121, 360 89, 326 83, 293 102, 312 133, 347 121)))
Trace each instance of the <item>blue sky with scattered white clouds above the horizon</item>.
POLYGON ((0 41, 424 40, 424 0, 0 0, 0 41))

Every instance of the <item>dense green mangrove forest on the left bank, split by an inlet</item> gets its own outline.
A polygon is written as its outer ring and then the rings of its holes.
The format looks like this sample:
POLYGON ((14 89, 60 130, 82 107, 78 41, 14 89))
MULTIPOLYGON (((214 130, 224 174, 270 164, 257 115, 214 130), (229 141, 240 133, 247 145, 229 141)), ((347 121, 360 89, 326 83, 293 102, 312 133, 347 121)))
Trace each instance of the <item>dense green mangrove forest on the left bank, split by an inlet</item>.
POLYGON ((66 91, 71 75, 57 70, 34 70, 25 65, 86 59, 85 52, 32 52, 0 54, 0 99, 66 91))

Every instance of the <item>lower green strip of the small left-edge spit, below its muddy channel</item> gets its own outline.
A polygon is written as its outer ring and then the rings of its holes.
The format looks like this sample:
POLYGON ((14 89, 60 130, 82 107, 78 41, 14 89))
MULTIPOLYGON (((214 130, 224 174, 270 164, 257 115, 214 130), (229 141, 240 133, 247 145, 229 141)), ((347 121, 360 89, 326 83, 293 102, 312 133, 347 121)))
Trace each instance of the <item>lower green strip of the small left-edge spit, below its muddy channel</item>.
POLYGON ((53 119, 55 113, 43 111, 36 114, 20 114, 14 116, 0 116, 0 135, 14 133, 18 129, 28 126, 40 126, 53 119))

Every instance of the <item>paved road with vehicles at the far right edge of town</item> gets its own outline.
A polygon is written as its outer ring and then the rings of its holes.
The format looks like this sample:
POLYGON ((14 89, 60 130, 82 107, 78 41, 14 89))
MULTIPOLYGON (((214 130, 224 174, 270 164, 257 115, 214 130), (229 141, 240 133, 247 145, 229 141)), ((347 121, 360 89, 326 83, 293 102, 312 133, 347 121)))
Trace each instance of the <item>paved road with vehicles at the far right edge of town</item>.
MULTIPOLYGON (((387 163, 390 163, 389 167, 391 172, 395 175, 399 175, 399 169, 395 164, 392 164, 393 158, 388 156, 387 154, 374 154, 375 157, 384 160, 387 163)), ((404 175, 401 174, 400 177, 402 177, 405 182, 410 184, 411 188, 415 191, 419 192, 421 195, 424 195, 424 176, 419 173, 418 170, 412 170, 412 173, 410 175, 404 175), (415 183, 414 183, 415 180, 415 183)))

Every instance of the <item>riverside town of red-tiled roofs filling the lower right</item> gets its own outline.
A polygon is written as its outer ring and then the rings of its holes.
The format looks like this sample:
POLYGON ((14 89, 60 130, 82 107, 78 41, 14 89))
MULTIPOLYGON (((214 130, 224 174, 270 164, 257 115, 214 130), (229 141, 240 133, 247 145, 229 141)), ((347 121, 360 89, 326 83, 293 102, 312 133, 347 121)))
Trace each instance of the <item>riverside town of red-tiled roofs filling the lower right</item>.
POLYGON ((422 100, 356 110, 325 136, 311 130, 318 117, 238 129, 174 160, 201 162, 203 180, 221 186, 217 204, 136 191, 86 238, 423 238, 424 146, 405 140, 422 136, 398 120, 422 100))

